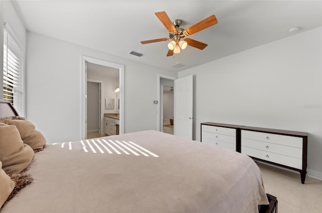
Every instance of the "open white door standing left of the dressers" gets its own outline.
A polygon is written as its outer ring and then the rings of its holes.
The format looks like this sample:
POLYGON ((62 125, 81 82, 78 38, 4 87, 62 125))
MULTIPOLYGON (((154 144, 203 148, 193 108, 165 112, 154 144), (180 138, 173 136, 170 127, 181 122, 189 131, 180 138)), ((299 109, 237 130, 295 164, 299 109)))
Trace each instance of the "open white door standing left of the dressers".
POLYGON ((174 134, 192 140, 192 75, 175 80, 174 134))

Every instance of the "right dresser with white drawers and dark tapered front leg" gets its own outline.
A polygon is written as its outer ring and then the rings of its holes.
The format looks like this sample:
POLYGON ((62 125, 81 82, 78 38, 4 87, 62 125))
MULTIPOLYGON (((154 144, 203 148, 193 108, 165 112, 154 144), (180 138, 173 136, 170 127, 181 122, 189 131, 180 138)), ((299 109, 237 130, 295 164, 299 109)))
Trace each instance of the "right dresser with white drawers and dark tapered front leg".
POLYGON ((240 152, 253 159, 299 171, 304 183, 307 167, 307 132, 240 127, 240 152))

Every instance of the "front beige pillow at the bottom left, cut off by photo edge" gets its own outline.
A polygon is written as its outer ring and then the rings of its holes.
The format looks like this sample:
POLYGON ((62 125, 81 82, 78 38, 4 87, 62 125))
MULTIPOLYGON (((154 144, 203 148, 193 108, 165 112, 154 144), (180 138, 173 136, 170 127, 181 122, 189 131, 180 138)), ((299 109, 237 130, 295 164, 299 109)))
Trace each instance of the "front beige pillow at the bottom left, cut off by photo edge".
MULTIPOLYGON (((2 162, 0 161, 0 167, 2 162)), ((0 168, 0 208, 6 202, 7 198, 14 190, 16 183, 0 168)))

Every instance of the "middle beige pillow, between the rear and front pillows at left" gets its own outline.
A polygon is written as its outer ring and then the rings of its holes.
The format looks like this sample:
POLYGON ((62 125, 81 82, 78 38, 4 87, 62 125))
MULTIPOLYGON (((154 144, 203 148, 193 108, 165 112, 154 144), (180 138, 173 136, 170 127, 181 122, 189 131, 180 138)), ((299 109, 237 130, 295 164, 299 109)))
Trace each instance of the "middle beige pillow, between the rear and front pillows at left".
POLYGON ((7 174, 20 173, 34 157, 34 151, 21 140, 16 126, 0 125, 0 147, 0 161, 7 174))

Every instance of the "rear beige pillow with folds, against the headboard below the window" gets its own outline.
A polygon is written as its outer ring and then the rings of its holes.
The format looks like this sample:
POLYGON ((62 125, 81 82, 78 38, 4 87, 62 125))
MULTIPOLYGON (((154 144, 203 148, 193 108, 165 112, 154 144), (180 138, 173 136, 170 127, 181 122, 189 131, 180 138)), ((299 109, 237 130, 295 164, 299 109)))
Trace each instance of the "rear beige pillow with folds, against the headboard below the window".
POLYGON ((3 118, 6 124, 15 125, 19 130, 21 139, 33 150, 42 149, 46 145, 46 139, 41 132, 35 129, 35 125, 29 121, 22 120, 20 117, 3 118), (18 119, 19 118, 19 119, 18 119))

